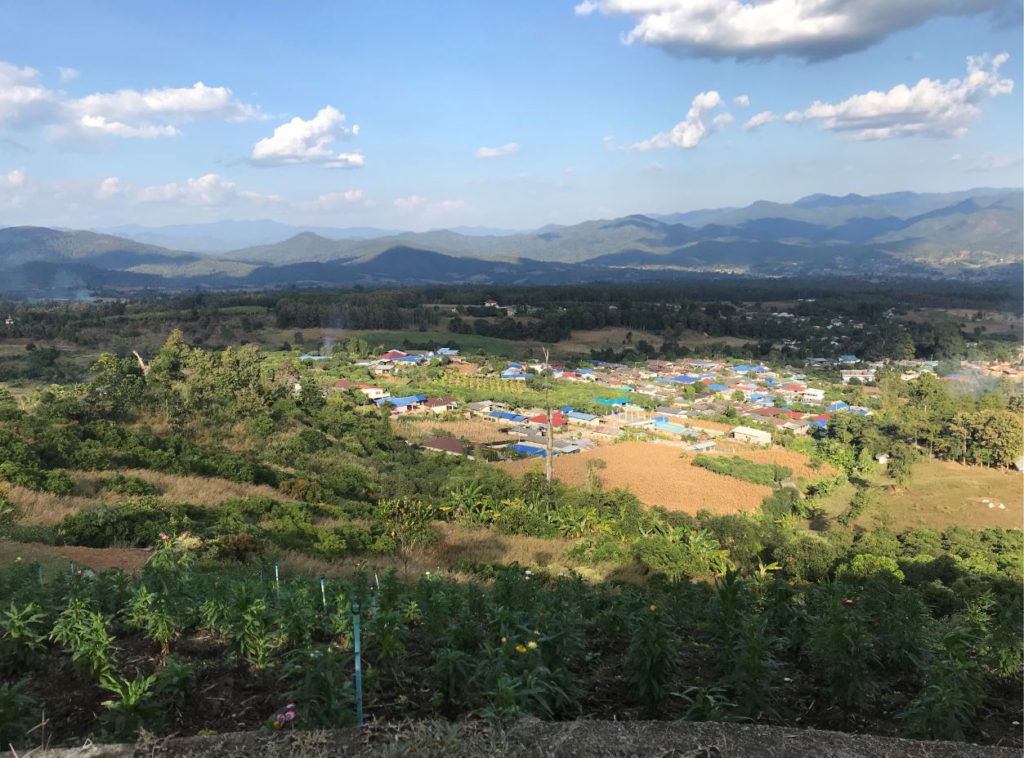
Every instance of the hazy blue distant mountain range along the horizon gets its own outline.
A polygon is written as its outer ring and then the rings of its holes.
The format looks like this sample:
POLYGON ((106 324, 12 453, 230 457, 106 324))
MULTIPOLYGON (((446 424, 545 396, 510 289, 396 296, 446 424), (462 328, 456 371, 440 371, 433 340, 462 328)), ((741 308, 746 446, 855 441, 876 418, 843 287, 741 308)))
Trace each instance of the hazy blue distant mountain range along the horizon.
POLYGON ((0 295, 749 276, 1020 277, 1024 193, 811 195, 796 203, 423 233, 276 221, 0 229, 0 295))

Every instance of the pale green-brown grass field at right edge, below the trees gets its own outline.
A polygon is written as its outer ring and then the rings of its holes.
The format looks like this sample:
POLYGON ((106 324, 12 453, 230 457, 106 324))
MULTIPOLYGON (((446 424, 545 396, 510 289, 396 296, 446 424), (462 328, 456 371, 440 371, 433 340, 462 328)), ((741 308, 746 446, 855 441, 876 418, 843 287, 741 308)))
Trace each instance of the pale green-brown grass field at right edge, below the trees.
MULTIPOLYGON (((913 478, 905 489, 896 489, 895 482, 881 471, 871 482, 878 491, 878 503, 855 521, 865 529, 1024 525, 1024 476, 1019 471, 924 461, 914 465, 913 478), (991 500, 993 507, 989 508, 984 499, 991 500), (999 503, 1006 508, 1000 509, 999 503)), ((825 511, 839 515, 853 493, 852 485, 841 488, 823 503, 825 511)))

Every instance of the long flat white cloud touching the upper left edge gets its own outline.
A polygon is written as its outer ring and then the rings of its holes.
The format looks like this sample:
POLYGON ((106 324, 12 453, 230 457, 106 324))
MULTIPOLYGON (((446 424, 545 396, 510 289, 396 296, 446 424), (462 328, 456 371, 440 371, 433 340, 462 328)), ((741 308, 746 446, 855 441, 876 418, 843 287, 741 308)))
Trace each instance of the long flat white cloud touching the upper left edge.
MULTIPOLYGON (((74 69, 58 71, 61 82, 78 75, 74 69)), ((45 127, 54 138, 173 137, 180 134, 177 125, 189 121, 245 121, 259 115, 258 108, 238 100, 227 87, 203 82, 68 97, 40 84, 35 69, 0 61, 0 124, 45 127)))

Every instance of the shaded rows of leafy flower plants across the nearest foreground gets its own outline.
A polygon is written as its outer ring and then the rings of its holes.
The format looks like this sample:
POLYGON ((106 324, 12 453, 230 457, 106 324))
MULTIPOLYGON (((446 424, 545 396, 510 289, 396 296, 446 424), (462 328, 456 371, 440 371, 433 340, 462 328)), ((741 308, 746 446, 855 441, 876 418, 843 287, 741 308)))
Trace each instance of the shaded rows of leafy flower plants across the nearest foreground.
POLYGON ((373 718, 672 717, 1017 736, 1011 576, 1021 543, 1010 533, 892 538, 881 552, 898 557, 862 553, 828 581, 761 565, 645 586, 513 565, 485 584, 356 568, 318 587, 275 581, 266 564, 197 561, 193 538, 165 537, 138 577, 40 575, 25 561, 0 572, 0 738, 30 746, 42 709, 58 742, 350 724, 353 602, 373 718))

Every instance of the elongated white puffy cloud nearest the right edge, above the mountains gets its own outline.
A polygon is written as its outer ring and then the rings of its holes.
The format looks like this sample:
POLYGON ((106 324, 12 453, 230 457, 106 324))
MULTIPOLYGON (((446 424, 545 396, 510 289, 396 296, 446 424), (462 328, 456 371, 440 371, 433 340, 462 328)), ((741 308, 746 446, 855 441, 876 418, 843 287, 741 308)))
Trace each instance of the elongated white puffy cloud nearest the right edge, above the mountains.
POLYGON ((818 120, 826 129, 855 139, 962 137, 981 115, 982 101, 1013 92, 1013 80, 999 78, 999 68, 1009 57, 1007 53, 971 56, 964 79, 922 79, 912 87, 898 84, 888 92, 872 90, 842 102, 815 101, 803 113, 787 114, 785 120, 818 120))

